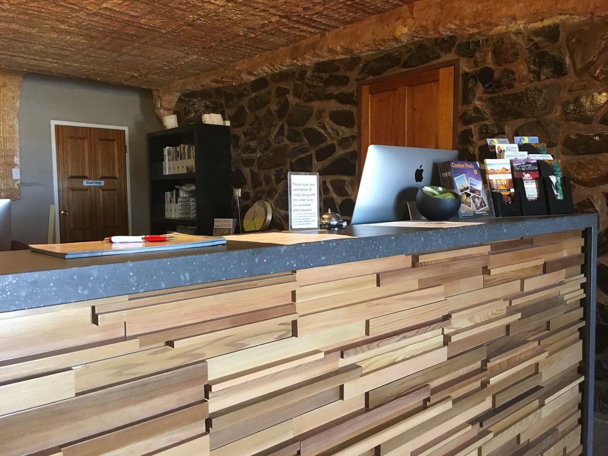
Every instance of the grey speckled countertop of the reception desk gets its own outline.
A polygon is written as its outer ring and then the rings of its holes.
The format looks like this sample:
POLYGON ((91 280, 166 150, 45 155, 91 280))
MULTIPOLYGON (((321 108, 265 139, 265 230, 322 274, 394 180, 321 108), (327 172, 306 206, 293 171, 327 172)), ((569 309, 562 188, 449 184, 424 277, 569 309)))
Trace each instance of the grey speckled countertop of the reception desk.
POLYGON ((443 229, 359 225, 340 230, 356 237, 345 240, 291 246, 229 241, 224 246, 73 260, 29 250, 0 252, 0 312, 564 230, 593 228, 596 233, 597 223, 596 214, 584 214, 496 218, 443 229))

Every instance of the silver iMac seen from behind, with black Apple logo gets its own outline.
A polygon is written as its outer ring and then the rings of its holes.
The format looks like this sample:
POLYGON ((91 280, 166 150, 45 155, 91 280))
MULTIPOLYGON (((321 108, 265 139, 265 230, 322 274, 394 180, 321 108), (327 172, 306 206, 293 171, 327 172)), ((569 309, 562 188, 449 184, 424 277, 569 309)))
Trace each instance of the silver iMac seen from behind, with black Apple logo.
POLYGON ((437 163, 457 157, 455 150, 370 145, 351 224, 409 218, 407 201, 424 185, 441 185, 437 163))

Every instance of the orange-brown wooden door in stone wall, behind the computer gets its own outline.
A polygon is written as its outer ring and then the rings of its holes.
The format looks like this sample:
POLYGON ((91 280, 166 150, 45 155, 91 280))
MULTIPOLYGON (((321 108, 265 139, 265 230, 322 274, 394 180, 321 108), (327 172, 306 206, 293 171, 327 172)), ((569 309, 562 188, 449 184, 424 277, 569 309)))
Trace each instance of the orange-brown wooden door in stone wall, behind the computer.
POLYGON ((360 86, 360 162, 370 144, 454 148, 454 65, 360 86))

